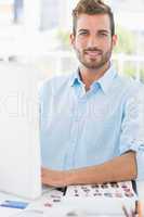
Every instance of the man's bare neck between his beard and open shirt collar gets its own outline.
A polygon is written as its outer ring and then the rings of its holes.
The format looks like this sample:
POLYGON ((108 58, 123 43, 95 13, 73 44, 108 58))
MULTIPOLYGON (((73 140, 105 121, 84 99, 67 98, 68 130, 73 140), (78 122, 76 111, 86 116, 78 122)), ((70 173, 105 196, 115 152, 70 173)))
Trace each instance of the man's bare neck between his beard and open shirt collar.
POLYGON ((109 68, 110 63, 108 62, 101 68, 86 68, 83 65, 80 66, 80 76, 82 82, 86 85, 86 91, 88 91, 91 87, 91 85, 99 80, 103 75, 106 73, 106 71, 109 68))

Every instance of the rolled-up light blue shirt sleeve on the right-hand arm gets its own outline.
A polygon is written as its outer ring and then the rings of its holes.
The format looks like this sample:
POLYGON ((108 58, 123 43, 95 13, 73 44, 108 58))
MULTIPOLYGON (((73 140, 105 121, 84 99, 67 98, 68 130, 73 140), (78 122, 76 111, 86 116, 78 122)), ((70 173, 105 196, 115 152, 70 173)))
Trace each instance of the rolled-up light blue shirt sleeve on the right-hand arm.
POLYGON ((144 180, 144 88, 126 101, 120 135, 120 154, 136 153, 138 180, 144 180))

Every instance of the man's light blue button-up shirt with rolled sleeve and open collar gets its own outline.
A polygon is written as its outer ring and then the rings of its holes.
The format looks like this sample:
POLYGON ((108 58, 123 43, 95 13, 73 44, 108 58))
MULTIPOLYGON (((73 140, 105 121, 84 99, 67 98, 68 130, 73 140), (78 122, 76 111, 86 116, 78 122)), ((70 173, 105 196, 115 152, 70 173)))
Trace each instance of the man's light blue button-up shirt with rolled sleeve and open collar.
POLYGON ((136 152, 144 179, 143 87, 110 67, 86 92, 79 73, 44 82, 40 91, 42 165, 70 169, 136 152))

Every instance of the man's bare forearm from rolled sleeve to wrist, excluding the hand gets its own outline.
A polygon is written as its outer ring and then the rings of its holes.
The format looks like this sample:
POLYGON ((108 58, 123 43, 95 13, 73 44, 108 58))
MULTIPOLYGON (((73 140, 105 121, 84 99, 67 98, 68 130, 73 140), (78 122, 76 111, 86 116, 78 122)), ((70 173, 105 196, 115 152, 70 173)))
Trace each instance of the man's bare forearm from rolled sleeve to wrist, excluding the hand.
POLYGON ((69 170, 67 178, 69 184, 103 183, 135 179, 135 153, 128 152, 97 166, 69 170))

